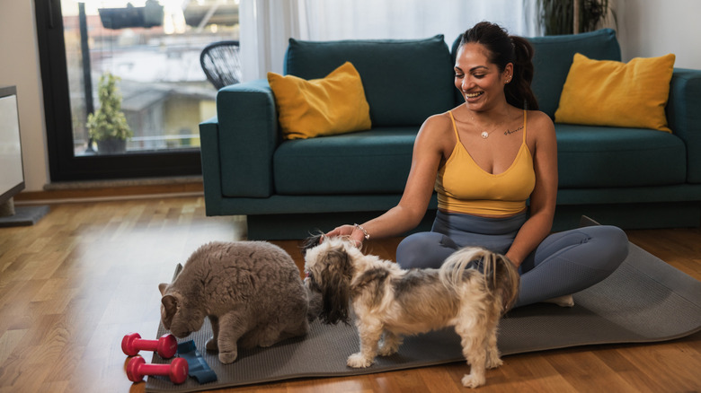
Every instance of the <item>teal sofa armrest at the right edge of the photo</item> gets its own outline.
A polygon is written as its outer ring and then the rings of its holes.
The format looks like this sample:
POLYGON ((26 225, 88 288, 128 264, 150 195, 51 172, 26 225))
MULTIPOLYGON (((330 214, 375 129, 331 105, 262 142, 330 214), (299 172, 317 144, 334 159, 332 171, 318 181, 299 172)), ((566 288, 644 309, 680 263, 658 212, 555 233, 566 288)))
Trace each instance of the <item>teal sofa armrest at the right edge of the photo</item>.
POLYGON ((701 183, 701 70, 674 69, 667 121, 687 145, 687 181, 701 183))

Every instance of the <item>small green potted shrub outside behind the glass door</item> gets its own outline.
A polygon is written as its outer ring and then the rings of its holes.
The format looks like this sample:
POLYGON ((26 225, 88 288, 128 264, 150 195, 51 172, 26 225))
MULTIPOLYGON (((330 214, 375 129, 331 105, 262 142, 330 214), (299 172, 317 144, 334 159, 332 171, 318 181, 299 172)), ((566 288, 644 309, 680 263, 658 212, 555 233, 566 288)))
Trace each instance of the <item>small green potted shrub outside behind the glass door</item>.
POLYGON ((116 86, 118 80, 111 73, 102 74, 97 88, 100 109, 88 115, 88 132, 101 154, 126 152, 127 139, 133 135, 121 111, 121 94, 116 86))

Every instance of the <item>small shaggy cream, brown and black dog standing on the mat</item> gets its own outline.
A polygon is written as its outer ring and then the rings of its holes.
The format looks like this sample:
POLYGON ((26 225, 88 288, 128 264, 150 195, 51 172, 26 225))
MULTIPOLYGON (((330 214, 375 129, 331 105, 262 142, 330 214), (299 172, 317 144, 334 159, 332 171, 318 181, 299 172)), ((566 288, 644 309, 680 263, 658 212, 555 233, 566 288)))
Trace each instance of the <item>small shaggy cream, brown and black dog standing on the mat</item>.
POLYGON ((404 270, 364 255, 351 240, 307 240, 305 284, 322 294, 319 318, 348 323, 352 311, 360 351, 348 365, 364 368, 377 354, 395 354, 402 336, 455 327, 471 366, 462 383, 484 385, 486 368, 501 365, 497 327, 516 301, 519 273, 510 260, 487 249, 457 250, 439 269, 404 270))

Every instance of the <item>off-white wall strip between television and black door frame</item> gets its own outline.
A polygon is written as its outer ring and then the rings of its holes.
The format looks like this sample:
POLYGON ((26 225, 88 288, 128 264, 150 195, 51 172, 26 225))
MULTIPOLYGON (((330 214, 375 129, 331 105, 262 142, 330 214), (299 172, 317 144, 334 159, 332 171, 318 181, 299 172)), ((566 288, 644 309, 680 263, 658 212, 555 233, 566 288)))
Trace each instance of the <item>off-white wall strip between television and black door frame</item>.
POLYGON ((0 0, 0 85, 17 86, 24 184, 28 191, 40 190, 49 182, 35 26, 33 0, 0 0))

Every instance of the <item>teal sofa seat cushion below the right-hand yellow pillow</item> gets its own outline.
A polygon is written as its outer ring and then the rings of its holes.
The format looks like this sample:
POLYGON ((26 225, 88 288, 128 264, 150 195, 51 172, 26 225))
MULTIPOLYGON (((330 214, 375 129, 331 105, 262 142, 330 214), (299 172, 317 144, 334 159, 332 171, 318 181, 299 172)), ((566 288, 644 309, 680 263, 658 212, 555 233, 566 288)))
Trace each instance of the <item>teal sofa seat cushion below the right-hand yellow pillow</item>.
POLYGON ((556 124, 559 188, 624 188, 686 181, 676 135, 652 129, 556 124))

